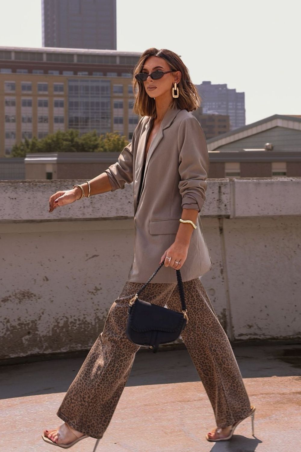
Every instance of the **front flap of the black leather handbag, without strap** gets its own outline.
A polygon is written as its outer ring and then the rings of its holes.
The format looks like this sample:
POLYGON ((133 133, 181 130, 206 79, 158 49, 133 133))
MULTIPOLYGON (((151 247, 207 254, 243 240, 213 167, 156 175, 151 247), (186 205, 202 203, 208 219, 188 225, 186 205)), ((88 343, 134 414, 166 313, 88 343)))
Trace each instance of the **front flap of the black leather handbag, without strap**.
POLYGON ((135 331, 177 331, 185 321, 181 312, 137 299, 130 311, 130 327, 135 331))

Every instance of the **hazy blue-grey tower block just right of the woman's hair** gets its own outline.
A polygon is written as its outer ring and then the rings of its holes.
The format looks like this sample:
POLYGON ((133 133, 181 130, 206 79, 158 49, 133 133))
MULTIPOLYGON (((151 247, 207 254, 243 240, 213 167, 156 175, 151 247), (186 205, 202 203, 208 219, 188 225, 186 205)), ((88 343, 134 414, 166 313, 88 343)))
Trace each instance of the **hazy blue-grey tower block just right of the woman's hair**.
POLYGON ((202 98, 203 113, 229 115, 230 130, 245 125, 245 93, 236 93, 226 83, 214 85, 203 81, 195 86, 202 98))

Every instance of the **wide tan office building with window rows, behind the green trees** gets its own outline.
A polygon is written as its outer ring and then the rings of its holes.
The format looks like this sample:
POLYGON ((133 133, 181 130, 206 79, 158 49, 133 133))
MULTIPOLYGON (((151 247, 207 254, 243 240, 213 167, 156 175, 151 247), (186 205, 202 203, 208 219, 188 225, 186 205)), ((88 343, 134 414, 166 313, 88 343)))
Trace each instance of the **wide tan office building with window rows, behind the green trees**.
POLYGON ((119 132, 131 139, 139 52, 0 47, 0 157, 25 137, 57 130, 119 132))

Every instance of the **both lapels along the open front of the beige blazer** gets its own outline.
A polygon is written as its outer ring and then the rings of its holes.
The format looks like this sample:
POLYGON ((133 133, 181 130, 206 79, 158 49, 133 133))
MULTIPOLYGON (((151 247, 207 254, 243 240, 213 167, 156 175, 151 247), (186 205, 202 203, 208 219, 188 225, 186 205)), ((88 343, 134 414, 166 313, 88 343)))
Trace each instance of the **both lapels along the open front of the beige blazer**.
MULTIPOLYGON (((166 129, 167 127, 169 127, 171 125, 171 122, 174 120, 174 118, 176 117, 176 115, 181 111, 180 108, 175 108, 175 109, 169 109, 167 110, 167 112, 164 115, 164 118, 162 119, 162 122, 160 124, 159 130, 156 134, 156 136, 153 138, 153 141, 151 142, 151 145, 149 146, 148 149, 148 155, 146 156, 146 162, 145 162, 145 170, 144 170, 144 178, 142 181, 142 187, 141 187, 141 192, 140 192, 140 197, 141 194, 143 192, 144 189, 144 181, 145 181, 145 176, 146 176, 146 172, 148 170, 148 165, 149 165, 149 160, 151 159, 154 151, 156 150, 158 144, 160 143, 160 141, 162 140, 163 136, 164 136, 164 129, 166 129)), ((142 176, 142 169, 143 169, 143 164, 144 164, 144 155, 145 155, 145 148, 146 148, 146 143, 147 143, 147 139, 148 139, 148 135, 150 132, 150 127, 153 124, 153 118, 150 118, 146 124, 145 127, 145 131, 143 132, 142 136, 141 136, 141 148, 140 148, 140 152, 139 155, 137 154, 136 157, 136 166, 135 166, 135 172, 136 172, 136 184, 135 184, 135 196, 134 196, 134 208, 136 210, 139 199, 138 199, 138 192, 139 192, 139 187, 140 187, 140 182, 141 182, 141 176, 142 176)))

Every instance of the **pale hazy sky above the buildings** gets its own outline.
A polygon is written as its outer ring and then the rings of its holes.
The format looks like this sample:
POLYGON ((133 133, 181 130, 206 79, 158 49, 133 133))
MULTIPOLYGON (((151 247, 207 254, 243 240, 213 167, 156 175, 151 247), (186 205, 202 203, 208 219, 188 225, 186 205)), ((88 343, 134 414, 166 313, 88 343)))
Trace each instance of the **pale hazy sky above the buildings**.
MULTIPOLYGON (((178 53, 194 83, 244 91, 249 124, 301 114, 300 18, 301 0, 117 0, 117 50, 178 53)), ((0 0, 0 46, 42 47, 41 24, 41 0, 0 0)))

